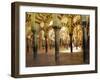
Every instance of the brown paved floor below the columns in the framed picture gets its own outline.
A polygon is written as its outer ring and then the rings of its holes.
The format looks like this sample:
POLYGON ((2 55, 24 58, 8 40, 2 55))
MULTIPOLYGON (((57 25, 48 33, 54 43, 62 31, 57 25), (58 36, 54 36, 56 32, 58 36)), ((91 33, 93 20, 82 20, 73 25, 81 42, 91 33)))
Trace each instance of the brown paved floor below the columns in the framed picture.
POLYGON ((61 53, 59 60, 55 61, 54 53, 38 53, 37 58, 33 58, 33 54, 26 54, 26 67, 34 66, 56 66, 56 65, 74 65, 83 64, 83 53, 61 53))

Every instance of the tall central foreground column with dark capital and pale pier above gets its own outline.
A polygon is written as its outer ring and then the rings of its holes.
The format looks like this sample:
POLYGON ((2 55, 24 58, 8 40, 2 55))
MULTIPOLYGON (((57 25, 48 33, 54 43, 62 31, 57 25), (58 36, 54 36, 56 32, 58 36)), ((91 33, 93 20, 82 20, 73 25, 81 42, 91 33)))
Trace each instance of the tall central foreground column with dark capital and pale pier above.
POLYGON ((53 14, 53 29, 55 32, 55 61, 59 64, 59 44, 60 44, 60 38, 59 38, 59 31, 61 29, 61 24, 59 19, 57 18, 57 14, 53 14))

